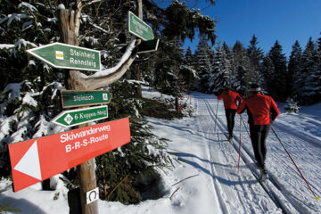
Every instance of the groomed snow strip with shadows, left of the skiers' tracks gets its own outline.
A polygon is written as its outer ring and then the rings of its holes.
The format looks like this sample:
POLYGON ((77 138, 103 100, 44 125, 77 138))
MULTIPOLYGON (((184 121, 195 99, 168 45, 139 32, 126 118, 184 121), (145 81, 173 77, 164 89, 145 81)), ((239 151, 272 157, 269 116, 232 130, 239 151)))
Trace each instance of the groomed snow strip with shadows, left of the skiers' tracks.
POLYGON ((251 172, 244 163, 242 174, 237 173, 237 156, 235 151, 225 140, 222 133, 214 133, 215 115, 210 112, 210 103, 202 97, 194 98, 197 104, 196 113, 198 126, 202 130, 204 159, 209 160, 210 174, 214 189, 218 194, 224 213, 280 213, 252 177, 251 172), (198 98, 198 99, 197 99, 198 98))

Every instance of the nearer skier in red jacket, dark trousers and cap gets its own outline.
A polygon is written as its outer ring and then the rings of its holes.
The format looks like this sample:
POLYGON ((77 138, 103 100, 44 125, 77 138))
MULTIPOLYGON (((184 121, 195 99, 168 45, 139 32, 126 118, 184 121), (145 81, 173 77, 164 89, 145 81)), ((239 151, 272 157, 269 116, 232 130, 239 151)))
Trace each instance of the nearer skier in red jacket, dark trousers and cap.
POLYGON ((259 180, 268 179, 268 170, 265 165, 267 156, 266 139, 271 123, 280 114, 276 102, 268 95, 260 94, 260 87, 252 84, 250 97, 243 100, 237 108, 237 113, 242 114, 246 109, 249 116, 251 144, 253 146, 255 160, 261 171, 259 180))

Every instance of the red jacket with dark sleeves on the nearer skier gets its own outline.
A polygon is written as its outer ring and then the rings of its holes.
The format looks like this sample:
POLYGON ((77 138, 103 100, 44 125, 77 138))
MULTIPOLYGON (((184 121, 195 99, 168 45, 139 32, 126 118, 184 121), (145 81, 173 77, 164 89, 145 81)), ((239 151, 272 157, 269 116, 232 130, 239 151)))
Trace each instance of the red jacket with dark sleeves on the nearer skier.
POLYGON ((241 114, 245 109, 248 110, 249 122, 254 125, 268 125, 280 114, 272 97, 259 93, 243 100, 236 112, 241 114))

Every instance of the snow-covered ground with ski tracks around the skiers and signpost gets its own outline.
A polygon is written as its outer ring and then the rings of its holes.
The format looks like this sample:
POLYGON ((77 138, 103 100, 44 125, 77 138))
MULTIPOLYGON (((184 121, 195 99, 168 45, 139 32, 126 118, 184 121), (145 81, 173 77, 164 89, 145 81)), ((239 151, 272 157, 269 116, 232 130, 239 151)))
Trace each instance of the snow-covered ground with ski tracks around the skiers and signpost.
MULTIPOLYGON (((144 96, 161 95, 144 88, 144 96)), ((267 140, 270 179, 262 186, 256 178, 259 170, 253 163, 248 128, 240 116, 235 116, 235 138, 230 144, 224 136, 222 101, 201 93, 191 97, 187 104, 193 107, 192 117, 147 118, 157 136, 171 140, 168 150, 178 160, 175 169, 160 171, 165 196, 129 206, 99 201, 99 213, 321 213, 321 200, 309 190, 273 131, 267 140)), ((321 104, 302 107, 299 114, 286 113, 282 106, 273 128, 312 191, 320 196, 321 104)), ((242 117, 246 123, 246 113, 242 117)), ((56 191, 41 191, 37 184, 12 193, 10 182, 2 180, 0 204, 12 203, 22 213, 69 213, 66 191, 59 184, 56 191)))

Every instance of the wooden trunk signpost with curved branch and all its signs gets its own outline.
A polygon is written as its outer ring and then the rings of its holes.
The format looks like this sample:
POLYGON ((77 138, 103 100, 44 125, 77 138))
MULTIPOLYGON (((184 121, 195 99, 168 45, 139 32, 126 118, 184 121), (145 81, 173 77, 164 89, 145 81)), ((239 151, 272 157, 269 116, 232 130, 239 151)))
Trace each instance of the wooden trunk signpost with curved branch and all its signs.
MULTIPOLYGON (((155 51, 159 40, 153 40, 152 28, 142 21, 142 0, 137 2, 139 17, 128 12, 129 32, 147 41, 140 47, 141 53, 155 51)), ((53 43, 28 50, 28 53, 54 68, 70 70, 69 86, 66 86, 70 90, 62 91, 62 108, 110 103, 111 95, 108 92, 85 89, 97 89, 121 78, 136 58, 136 54, 128 54, 128 59, 111 75, 90 78, 79 75, 78 70, 100 71, 102 68, 99 51, 78 46, 82 2, 77 1, 76 7, 77 10, 71 12, 59 10, 61 35, 65 44, 53 43)), ((133 42, 139 45, 140 39, 134 38, 133 42)), ((128 52, 133 49, 129 47, 128 52)), ((53 122, 65 127, 78 126, 78 129, 10 144, 14 191, 77 166, 82 213, 98 213, 94 158, 130 141, 128 118, 87 126, 89 121, 107 117, 107 106, 63 111, 53 122)))

